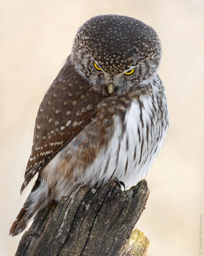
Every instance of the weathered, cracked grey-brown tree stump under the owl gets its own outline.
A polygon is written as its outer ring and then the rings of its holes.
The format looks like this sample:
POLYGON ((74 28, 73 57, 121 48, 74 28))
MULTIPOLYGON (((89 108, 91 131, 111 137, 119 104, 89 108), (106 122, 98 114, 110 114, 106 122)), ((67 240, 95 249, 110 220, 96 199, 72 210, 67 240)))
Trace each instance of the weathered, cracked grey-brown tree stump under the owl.
POLYGON ((125 192, 114 182, 75 188, 36 215, 15 256, 143 256, 149 240, 134 226, 148 196, 145 180, 125 192))

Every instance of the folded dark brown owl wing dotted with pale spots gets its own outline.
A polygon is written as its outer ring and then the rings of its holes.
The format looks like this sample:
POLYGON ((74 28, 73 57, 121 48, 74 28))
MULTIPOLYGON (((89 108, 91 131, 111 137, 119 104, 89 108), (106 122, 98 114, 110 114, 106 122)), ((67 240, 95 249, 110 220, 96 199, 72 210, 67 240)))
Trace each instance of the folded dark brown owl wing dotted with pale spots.
POLYGON ((99 99, 69 57, 40 104, 21 193, 31 179, 93 120, 99 99))

